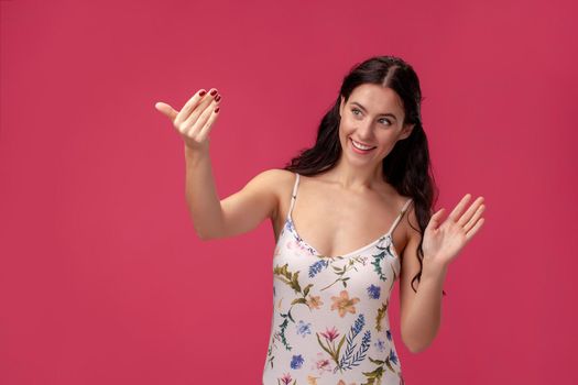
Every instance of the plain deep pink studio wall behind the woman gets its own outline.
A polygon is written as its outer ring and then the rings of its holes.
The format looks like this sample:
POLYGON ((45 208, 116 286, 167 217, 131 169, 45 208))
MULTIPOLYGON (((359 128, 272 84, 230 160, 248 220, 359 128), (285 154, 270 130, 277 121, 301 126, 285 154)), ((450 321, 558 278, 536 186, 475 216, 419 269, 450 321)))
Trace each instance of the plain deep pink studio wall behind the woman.
POLYGON ((201 242, 155 109, 217 87, 219 196, 313 144, 349 68, 418 73, 440 189, 487 201, 407 384, 576 384, 571 1, 0 1, 0 383, 260 384, 274 237, 201 242), (225 378, 227 376, 227 380, 225 378))

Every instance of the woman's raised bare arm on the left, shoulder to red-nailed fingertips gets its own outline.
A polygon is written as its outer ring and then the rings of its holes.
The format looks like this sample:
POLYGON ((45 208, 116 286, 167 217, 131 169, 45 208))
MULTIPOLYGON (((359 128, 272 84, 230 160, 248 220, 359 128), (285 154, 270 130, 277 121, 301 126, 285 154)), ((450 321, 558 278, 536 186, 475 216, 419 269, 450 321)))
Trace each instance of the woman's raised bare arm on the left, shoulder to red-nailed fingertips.
MULTIPOLYGON (((277 207, 276 187, 283 170, 265 170, 240 191, 219 200, 212 176, 208 133, 217 119, 217 95, 199 92, 179 111, 166 103, 156 109, 170 117, 185 140, 185 196, 198 237, 203 240, 233 237, 273 218, 277 207)), ((220 98, 219 98, 220 99, 220 98)))

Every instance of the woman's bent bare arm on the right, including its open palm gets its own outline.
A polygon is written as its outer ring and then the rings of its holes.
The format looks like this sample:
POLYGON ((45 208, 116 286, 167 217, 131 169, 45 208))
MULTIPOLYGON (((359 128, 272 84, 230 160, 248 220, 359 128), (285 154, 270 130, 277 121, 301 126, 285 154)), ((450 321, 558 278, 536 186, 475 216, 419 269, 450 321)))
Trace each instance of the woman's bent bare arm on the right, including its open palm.
MULTIPOLYGON (((441 289, 449 263, 483 224, 483 197, 466 210, 470 198, 467 194, 444 222, 440 221, 444 209, 432 216, 424 232, 424 260, 417 293, 411 287, 413 276, 419 271, 416 250, 421 235, 417 231, 412 232, 404 249, 400 279, 401 331, 412 353, 425 350, 434 341, 441 318, 441 289)), ((414 210, 410 213, 410 221, 416 221, 414 210)))

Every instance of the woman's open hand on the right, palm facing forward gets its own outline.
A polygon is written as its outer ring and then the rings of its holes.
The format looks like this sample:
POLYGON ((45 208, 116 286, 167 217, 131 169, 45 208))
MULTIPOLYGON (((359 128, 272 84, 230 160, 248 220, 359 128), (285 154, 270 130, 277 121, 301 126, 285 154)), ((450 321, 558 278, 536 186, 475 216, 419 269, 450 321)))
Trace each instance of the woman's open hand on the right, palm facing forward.
POLYGON ((486 207, 483 197, 479 197, 466 210, 471 196, 466 194, 444 222, 440 221, 444 209, 439 209, 429 219, 424 232, 424 265, 447 267, 461 249, 472 239, 483 224, 481 217, 486 207))

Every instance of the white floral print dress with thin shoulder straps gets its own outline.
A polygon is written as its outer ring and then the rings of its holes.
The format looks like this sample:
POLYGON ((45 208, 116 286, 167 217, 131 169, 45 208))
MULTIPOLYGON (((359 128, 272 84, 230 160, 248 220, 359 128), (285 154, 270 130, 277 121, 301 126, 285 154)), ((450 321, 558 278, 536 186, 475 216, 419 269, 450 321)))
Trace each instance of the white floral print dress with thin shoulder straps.
POLYGON ((401 264, 391 229, 339 256, 320 255, 297 233, 291 207, 273 256, 273 316, 264 385, 403 384, 388 305, 401 264))

